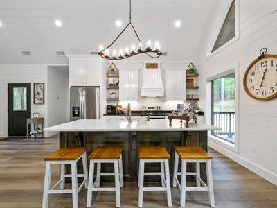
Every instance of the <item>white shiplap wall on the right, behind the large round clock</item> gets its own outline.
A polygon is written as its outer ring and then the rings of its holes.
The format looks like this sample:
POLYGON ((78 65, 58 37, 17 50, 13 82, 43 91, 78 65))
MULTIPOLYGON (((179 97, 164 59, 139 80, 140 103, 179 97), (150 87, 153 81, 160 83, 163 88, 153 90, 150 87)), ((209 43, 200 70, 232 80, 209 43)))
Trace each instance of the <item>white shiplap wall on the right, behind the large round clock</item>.
MULTIPOLYGON (((222 4, 217 3, 215 15, 199 51, 197 67, 200 73, 199 85, 206 85, 206 78, 228 70, 230 66, 239 68, 238 95, 238 151, 229 150, 209 141, 224 155, 246 166, 277 184, 277 99, 256 101, 244 92, 244 71, 252 60, 256 59, 262 47, 268 47, 269 53, 277 54, 277 3, 276 0, 244 0, 239 2, 240 34, 238 40, 215 55, 206 58, 211 48, 209 40, 217 24, 222 4)), ((222 17, 224 18, 224 17, 222 17)), ((200 105, 206 102, 206 90, 199 88, 200 105)))

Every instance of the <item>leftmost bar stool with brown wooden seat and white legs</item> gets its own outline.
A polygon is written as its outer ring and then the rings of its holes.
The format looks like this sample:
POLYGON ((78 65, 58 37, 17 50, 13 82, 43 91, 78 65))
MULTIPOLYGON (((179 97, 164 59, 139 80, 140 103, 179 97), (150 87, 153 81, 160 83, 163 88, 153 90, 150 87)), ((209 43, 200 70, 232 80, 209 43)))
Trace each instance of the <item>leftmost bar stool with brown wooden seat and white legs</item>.
POLYGON ((87 189, 87 148, 60 148, 51 155, 44 157, 46 161, 46 171, 44 178, 44 193, 42 208, 48 207, 49 194, 72 193, 73 208, 78 208, 78 193, 84 186, 87 189), (77 162, 82 158, 83 174, 77 173, 77 162), (60 180, 51 189, 51 165, 60 165, 60 180), (71 165, 71 174, 64 174, 64 166, 71 165), (64 189, 64 178, 71 177, 72 189, 64 189), (84 180, 78 188, 78 177, 84 177, 84 180), (60 184, 60 190, 54 190, 60 184))

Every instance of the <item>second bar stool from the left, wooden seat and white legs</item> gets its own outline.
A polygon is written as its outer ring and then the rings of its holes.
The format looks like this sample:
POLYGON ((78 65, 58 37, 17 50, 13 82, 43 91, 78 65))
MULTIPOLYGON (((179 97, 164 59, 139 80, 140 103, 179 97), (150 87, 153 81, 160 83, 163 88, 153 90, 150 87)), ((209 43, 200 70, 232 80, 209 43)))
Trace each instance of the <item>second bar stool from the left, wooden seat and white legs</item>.
POLYGON ((87 207, 91 207, 92 191, 115 191, 116 207, 120 207, 120 187, 123 187, 122 147, 101 146, 89 155, 89 188, 87 191, 87 207), (113 163, 114 173, 101 173, 101 163, 113 163), (93 182, 94 164, 97 164, 96 181, 93 182), (99 188, 100 177, 114 175, 115 187, 99 188))

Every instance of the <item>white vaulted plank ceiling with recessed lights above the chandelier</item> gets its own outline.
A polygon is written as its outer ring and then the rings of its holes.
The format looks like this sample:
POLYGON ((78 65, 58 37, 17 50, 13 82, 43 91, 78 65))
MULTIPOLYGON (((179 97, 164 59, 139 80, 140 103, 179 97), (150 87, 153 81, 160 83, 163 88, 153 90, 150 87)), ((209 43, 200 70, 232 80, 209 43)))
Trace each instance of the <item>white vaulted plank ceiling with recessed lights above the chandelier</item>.
MULTIPOLYGON (((217 0, 132 0, 132 22, 143 42, 159 41, 166 60, 195 60, 217 0), (181 27, 175 28, 175 21, 181 27)), ((56 51, 106 46, 129 21, 128 0, 1 0, 0 64, 66 64, 56 51), (57 27, 55 20, 62 26, 57 27), (118 28, 116 20, 123 21, 118 28), (30 51, 24 56, 21 51, 30 51)), ((136 44, 130 31, 118 46, 136 44)), ((139 59, 147 58, 137 55, 139 59)))

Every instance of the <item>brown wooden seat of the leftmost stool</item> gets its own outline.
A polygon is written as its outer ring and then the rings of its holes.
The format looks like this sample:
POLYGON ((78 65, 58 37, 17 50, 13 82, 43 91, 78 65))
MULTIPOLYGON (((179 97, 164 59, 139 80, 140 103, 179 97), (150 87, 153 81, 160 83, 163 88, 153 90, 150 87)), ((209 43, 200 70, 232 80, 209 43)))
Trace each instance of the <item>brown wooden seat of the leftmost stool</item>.
POLYGON ((60 150, 51 153, 47 157, 44 157, 44 161, 56 161, 56 160, 76 160, 78 159, 87 148, 60 148, 60 150))

